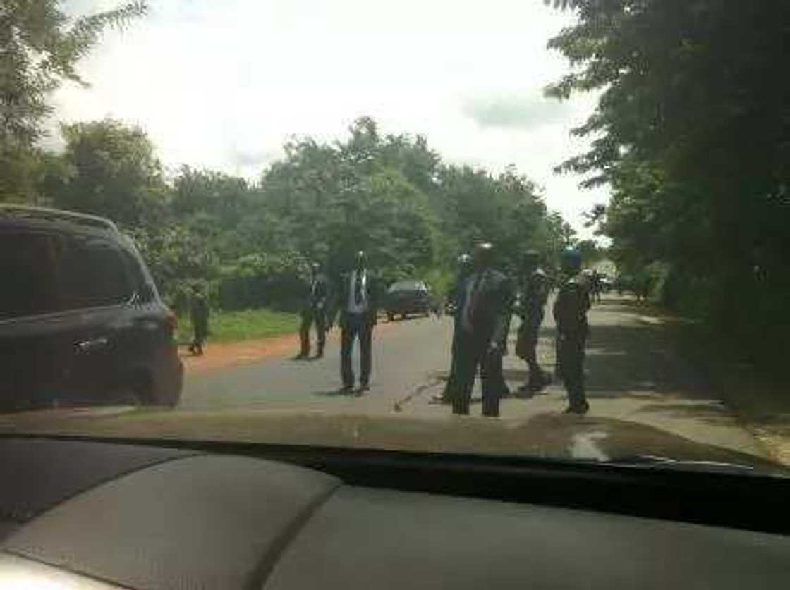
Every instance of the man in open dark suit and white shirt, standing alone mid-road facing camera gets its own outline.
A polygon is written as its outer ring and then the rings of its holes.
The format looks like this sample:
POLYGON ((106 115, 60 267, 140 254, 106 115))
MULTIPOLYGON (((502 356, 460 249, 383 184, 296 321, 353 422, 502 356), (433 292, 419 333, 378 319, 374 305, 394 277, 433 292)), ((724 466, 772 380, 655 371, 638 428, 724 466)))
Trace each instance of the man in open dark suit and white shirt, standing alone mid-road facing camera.
MULTIPOLYGON (((379 285, 367 269, 367 256, 359 251, 355 268, 340 277, 337 289, 337 310, 340 312, 340 378, 343 391, 354 389, 354 370, 351 363, 354 340, 359 338, 359 392, 370 387, 371 344, 373 327, 378 314, 379 285)), ((333 322, 332 322, 333 323, 333 322)))

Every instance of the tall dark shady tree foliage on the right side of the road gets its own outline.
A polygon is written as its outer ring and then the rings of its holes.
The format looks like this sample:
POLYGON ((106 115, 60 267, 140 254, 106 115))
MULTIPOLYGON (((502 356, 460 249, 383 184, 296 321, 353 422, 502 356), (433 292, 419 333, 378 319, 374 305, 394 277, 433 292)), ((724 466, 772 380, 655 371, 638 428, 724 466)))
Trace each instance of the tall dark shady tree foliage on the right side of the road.
POLYGON ((560 167, 610 182, 599 230, 626 272, 664 268, 665 303, 743 355, 777 361, 790 296, 788 2, 578 0, 552 39, 573 67, 548 92, 600 88, 560 167), (755 352, 759 351, 759 352, 755 352))

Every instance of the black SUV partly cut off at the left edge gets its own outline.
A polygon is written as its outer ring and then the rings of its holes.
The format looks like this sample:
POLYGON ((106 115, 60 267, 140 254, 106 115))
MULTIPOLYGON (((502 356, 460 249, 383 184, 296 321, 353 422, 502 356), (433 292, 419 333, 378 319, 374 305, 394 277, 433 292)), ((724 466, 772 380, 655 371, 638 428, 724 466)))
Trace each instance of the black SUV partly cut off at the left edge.
POLYGON ((175 405, 175 325, 110 220, 0 205, 0 411, 175 405))

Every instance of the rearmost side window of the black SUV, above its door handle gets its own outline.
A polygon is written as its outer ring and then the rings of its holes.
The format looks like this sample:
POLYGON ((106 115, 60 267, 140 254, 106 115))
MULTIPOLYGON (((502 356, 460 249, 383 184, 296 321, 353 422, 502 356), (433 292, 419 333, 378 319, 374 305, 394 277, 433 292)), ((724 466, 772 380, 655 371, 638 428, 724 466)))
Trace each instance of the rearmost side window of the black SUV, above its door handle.
POLYGON ((126 303, 134 292, 121 251, 108 240, 72 239, 65 270, 69 309, 126 303))

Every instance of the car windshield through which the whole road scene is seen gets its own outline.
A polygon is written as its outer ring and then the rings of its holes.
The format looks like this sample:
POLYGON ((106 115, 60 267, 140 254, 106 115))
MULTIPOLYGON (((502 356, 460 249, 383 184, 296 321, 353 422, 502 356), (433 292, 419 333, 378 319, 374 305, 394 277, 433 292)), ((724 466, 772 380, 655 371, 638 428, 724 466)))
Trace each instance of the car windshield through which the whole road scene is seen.
POLYGON ((788 26, 6 3, 0 429, 781 473, 788 26))

